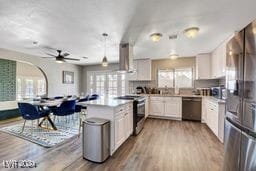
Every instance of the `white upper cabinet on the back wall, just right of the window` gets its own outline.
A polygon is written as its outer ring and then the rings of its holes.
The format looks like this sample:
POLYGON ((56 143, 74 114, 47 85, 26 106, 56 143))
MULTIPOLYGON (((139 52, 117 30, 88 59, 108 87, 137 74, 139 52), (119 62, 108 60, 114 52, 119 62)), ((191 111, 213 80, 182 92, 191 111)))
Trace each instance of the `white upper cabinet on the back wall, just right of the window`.
POLYGON ((196 56, 196 79, 211 78, 211 54, 198 54, 196 56))

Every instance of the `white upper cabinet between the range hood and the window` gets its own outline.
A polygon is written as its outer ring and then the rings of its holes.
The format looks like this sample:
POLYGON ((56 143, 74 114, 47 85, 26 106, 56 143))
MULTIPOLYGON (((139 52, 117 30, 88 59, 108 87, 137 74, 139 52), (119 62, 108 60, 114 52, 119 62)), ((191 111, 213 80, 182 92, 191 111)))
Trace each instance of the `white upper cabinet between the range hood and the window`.
POLYGON ((133 74, 128 74, 128 80, 133 81, 148 81, 151 80, 151 60, 150 59, 138 59, 133 61, 134 69, 133 74))

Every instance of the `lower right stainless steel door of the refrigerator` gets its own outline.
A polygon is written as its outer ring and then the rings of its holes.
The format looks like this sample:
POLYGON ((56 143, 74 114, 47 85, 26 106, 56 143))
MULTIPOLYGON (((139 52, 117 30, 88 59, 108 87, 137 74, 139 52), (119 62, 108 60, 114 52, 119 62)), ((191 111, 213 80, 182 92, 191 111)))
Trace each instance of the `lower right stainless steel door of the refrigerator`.
POLYGON ((256 170, 256 138, 242 133, 241 171, 256 170))

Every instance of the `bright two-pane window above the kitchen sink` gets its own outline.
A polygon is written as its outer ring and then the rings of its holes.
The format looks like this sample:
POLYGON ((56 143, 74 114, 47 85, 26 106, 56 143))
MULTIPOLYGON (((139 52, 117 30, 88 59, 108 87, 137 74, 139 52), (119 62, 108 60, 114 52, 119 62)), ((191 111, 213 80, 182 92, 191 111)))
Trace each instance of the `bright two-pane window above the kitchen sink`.
POLYGON ((175 68, 170 70, 158 70, 158 87, 192 88, 193 69, 175 68))

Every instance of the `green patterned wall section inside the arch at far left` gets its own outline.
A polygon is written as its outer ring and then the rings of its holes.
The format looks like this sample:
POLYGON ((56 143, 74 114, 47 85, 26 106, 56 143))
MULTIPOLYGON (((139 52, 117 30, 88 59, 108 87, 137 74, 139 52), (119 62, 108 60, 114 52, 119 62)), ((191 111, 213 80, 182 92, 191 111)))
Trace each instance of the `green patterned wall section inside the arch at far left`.
POLYGON ((16 99, 16 62, 0 59, 0 102, 16 99))

